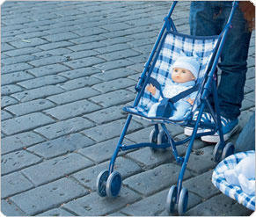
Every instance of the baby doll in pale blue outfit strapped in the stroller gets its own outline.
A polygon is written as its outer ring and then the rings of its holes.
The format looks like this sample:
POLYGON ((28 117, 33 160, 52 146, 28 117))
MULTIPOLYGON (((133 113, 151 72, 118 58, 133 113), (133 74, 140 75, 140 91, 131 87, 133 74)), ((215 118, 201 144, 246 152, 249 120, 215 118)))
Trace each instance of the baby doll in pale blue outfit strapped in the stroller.
MULTIPOLYGON (((180 56, 172 65, 172 83, 165 85, 163 90, 164 98, 172 98, 180 92, 192 88, 197 79, 199 69, 200 63, 193 56, 180 56)), ((147 86, 146 90, 150 91, 152 95, 155 95, 157 92, 156 87, 151 83, 147 86)), ((170 119, 182 119, 194 104, 195 97, 196 92, 193 92, 186 98, 181 98, 178 102, 174 103, 176 111, 173 112, 170 119)), ((160 97, 159 101, 162 99, 160 97)), ((159 102, 151 106, 148 117, 156 117, 158 105, 160 105, 159 102)))

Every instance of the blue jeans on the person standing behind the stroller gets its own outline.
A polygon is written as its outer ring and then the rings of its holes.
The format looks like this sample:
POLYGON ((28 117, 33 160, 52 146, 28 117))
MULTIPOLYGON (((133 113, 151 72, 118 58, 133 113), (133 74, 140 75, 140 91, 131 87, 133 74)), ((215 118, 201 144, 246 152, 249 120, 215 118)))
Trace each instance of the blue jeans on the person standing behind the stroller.
MULTIPOLYGON (((231 8, 232 2, 192 2, 189 18, 191 35, 220 34, 230 16, 231 8)), ((251 33, 247 29, 243 12, 238 7, 218 64, 222 76, 217 94, 221 115, 227 119, 237 119, 240 115, 250 39, 251 33)))

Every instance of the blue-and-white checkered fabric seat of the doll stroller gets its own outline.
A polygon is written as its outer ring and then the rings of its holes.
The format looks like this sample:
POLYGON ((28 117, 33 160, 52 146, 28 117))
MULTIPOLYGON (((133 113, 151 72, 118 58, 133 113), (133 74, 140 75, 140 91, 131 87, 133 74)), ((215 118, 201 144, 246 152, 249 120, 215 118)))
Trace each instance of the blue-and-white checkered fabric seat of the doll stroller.
MULTIPOLYGON (((180 53, 183 52, 187 56, 196 54, 199 57, 198 59, 200 61, 201 68, 197 83, 201 83, 207 71, 210 58, 214 54, 215 48, 217 47, 218 38, 218 36, 194 37, 180 33, 167 33, 163 46, 157 57, 157 62, 150 76, 157 79, 157 82, 161 84, 163 90, 166 83, 172 83, 172 64, 180 56, 180 53)), ((159 91, 157 91, 155 96, 152 96, 148 91, 144 91, 139 104, 134 108, 126 107, 125 111, 147 118, 150 107, 157 103, 160 98, 160 94, 158 94, 158 92, 159 91)), ((198 98, 199 97, 197 97, 197 100, 195 100, 192 109, 193 112, 200 104, 198 98)), ((184 119, 187 119, 187 116, 190 113, 191 111, 187 112, 187 115, 184 117, 184 119)))

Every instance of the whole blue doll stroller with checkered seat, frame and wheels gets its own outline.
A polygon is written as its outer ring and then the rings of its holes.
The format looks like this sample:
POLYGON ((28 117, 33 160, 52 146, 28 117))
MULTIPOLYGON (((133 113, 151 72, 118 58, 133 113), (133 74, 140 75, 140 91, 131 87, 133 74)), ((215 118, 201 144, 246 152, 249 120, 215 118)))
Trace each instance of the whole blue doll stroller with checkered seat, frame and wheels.
MULTIPOLYGON (((193 148, 195 138, 203 135, 219 133, 220 141, 216 144, 213 152, 214 160, 220 162, 226 156, 230 156, 234 153, 235 148, 232 143, 225 144, 223 139, 223 130, 220 119, 220 110, 218 105, 218 98, 216 93, 216 66, 223 49, 223 44, 226 39, 227 33, 231 27, 231 20, 234 12, 238 7, 238 3, 234 2, 232 10, 230 12, 230 18, 225 25, 223 32, 216 36, 190 36, 177 32, 177 29, 172 21, 171 15, 177 2, 173 2, 172 7, 165 17, 165 23, 157 37, 156 43, 152 48, 150 57, 144 65, 143 72, 139 78, 138 83, 135 86, 137 95, 133 106, 127 106, 123 110, 128 112, 128 118, 125 126, 122 130, 120 140, 117 143, 115 151, 113 153, 109 169, 99 173, 97 178, 97 192, 100 197, 117 197, 121 190, 121 174, 118 171, 113 171, 114 163, 119 151, 125 151, 133 148, 150 147, 151 150, 157 150, 158 148, 172 148, 172 153, 177 163, 181 165, 179 171, 179 178, 177 185, 172 185, 167 199, 166 199, 166 211, 168 213, 174 213, 175 206, 178 207, 179 215, 186 213, 188 192, 187 188, 182 186, 182 180, 187 168, 188 159, 193 148), (165 98, 165 108, 167 105, 173 105, 180 98, 185 98, 188 94, 196 92, 196 98, 194 104, 187 111, 182 119, 170 119, 168 116, 149 117, 149 111, 152 105, 159 101, 159 96, 152 96, 146 87, 153 83, 157 89, 161 90, 165 87, 166 83, 170 82, 170 71, 168 70, 174 61, 177 60, 180 53, 187 56, 193 56, 195 53, 199 57, 200 70, 196 80, 196 85, 193 88, 183 91, 173 98, 165 98), (213 95, 214 106, 212 106, 208 100, 209 94, 213 95), (214 123, 205 123, 201 121, 202 113, 208 109, 214 123), (198 115, 194 118, 194 113, 198 115), (123 145, 123 139, 128 131, 133 116, 147 119, 154 124, 153 130, 150 132, 150 141, 144 143, 138 143, 133 145, 123 145), (175 124, 182 127, 193 127, 193 133, 183 141, 174 141, 172 135, 167 130, 165 124, 175 124), (161 126, 161 129, 160 129, 161 126), (197 129, 206 128, 207 132, 197 133, 197 129), (176 149, 177 146, 188 142, 187 152, 185 156, 179 156, 176 149)), ((168 111, 168 110, 164 110, 168 111)))

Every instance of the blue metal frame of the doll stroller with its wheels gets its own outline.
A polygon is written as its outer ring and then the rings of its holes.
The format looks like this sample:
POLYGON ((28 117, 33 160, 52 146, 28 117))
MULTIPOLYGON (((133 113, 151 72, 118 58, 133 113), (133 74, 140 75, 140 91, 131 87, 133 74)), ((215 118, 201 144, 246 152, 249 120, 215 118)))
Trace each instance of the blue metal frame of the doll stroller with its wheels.
MULTIPOLYGON (((164 41, 164 40, 162 40, 163 36, 165 38, 165 34, 168 33, 168 31, 170 31, 170 30, 172 30, 172 32, 174 32, 174 33, 178 33, 176 26, 174 25, 172 18, 171 18, 172 11, 174 10, 175 5, 177 3, 178 3, 177 1, 173 2, 168 15, 165 17, 165 22, 161 28, 160 33, 158 34, 157 40, 155 42, 154 47, 152 48, 149 59, 145 63, 143 72, 139 78, 138 83, 135 86, 135 90, 138 91, 138 94, 136 95, 133 106, 138 105, 140 98, 142 98, 143 90, 145 89, 145 87, 148 83, 152 69, 154 68, 154 65, 157 61, 157 56, 160 52, 161 44, 164 41), (157 50, 157 48, 158 48, 158 50, 157 50), (156 54, 155 59, 153 60, 153 57, 154 57, 154 54, 156 53, 156 51, 157 51, 157 54, 156 54), (152 63, 151 63, 151 61, 152 61, 152 63)), ((175 204, 177 204, 178 205, 178 213, 179 213, 179 215, 182 215, 183 213, 186 213, 187 198, 188 198, 187 189, 182 187, 182 180, 183 180, 183 177, 185 174, 185 170, 187 168, 187 163, 188 163, 188 159, 189 159, 190 153, 193 148, 194 140, 203 135, 212 135, 212 134, 215 134, 216 132, 218 132, 220 141, 216 144, 216 146, 214 148, 214 152, 213 152, 214 160, 216 162, 220 162, 223 158, 225 158, 226 156, 230 156, 235 152, 234 145, 230 142, 225 144, 225 141, 223 139, 223 129, 222 129, 222 123, 221 123, 220 108, 219 108, 218 98, 217 98, 215 72, 216 72, 216 66, 218 63, 218 59, 223 50, 224 41, 226 40, 226 37, 227 37, 227 34, 228 34, 230 28, 232 27, 231 21, 232 21, 235 11, 237 10, 237 7, 238 7, 238 2, 234 1, 232 3, 232 9, 230 11, 230 17, 227 21, 227 24, 223 28, 223 32, 220 35, 218 35, 219 38, 218 38, 217 43, 219 43, 219 46, 215 50, 215 54, 213 54, 213 56, 211 57, 211 64, 210 64, 210 66, 208 66, 208 68, 210 68, 210 69, 207 69, 207 73, 205 76, 206 79, 204 80, 204 82, 205 82, 204 87, 201 89, 201 105, 200 105, 198 117, 196 120, 193 120, 192 119, 193 115, 191 115, 190 119, 187 119, 186 124, 181 124, 186 127, 194 127, 192 135, 187 137, 185 140, 174 141, 172 138, 172 135, 169 134, 168 129, 165 126, 166 121, 173 123, 173 120, 168 121, 168 119, 163 118, 162 120, 165 120, 165 122, 162 121, 160 123, 155 123, 155 125, 154 125, 155 128, 153 129, 153 131, 150 134, 151 142, 137 143, 137 144, 128 145, 128 146, 123 145, 122 141, 124 140, 124 137, 128 131, 128 126, 129 126, 130 121, 133 116, 133 114, 129 113, 126 123, 122 129, 120 139, 119 139, 117 146, 113 152, 113 156, 112 156, 111 162, 109 164, 109 168, 108 168, 108 170, 102 171, 97 178, 97 192, 98 192, 99 196, 101 196, 101 197, 107 196, 110 198, 115 198, 120 192, 121 175, 119 172, 113 171, 115 160, 120 151, 125 151, 125 150, 129 150, 129 149, 134 149, 134 148, 143 148, 143 147, 150 147, 152 149, 172 148, 172 153, 175 157, 176 162, 181 165, 181 170, 179 171, 179 178, 178 178, 177 186, 172 185, 172 187, 168 193, 165 208, 168 213, 173 213, 174 206, 175 206, 175 204), (210 103, 209 103, 208 95, 210 93, 213 94, 215 108, 213 108, 212 105, 210 105, 210 103), (207 124, 207 123, 201 122, 201 116, 206 107, 208 107, 208 111, 212 115, 212 117, 215 121, 215 124, 207 124), (159 129, 158 124, 161 125, 163 131, 159 129), (208 129, 210 129, 210 131, 198 134, 197 129, 199 127, 208 128, 208 129), (161 144, 156 144, 157 143, 156 142, 157 135, 158 135, 158 137, 159 136, 161 137, 160 139, 162 142, 164 141, 163 143, 161 142, 161 144), (179 156, 176 147, 186 143, 187 141, 189 141, 189 143, 187 146, 186 155, 184 157, 179 156)), ((196 38, 196 36, 194 38, 196 38)))

